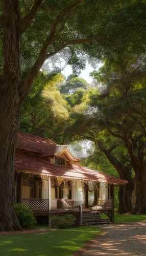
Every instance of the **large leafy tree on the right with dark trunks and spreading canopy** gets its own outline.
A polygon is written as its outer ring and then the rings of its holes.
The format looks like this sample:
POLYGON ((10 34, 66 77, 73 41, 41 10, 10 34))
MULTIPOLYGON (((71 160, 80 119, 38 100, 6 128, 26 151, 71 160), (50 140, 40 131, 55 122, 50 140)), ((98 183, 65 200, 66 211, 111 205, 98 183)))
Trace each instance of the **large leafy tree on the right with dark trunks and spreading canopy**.
POLYGON ((93 76, 99 88, 85 92, 81 102, 74 106, 66 133, 68 136, 72 134, 74 139, 93 141, 115 167, 119 177, 129 181, 124 189, 120 189, 120 212, 132 209, 134 188, 136 202, 132 212, 145 213, 144 56, 142 60, 140 56, 133 59, 133 62, 123 59, 112 64, 106 62, 93 76))

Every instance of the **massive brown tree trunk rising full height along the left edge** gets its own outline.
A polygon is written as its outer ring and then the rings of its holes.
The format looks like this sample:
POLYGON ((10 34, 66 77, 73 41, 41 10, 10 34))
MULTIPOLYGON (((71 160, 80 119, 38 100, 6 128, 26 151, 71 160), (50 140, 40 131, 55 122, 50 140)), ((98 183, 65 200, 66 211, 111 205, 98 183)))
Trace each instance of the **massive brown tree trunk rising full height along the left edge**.
POLYGON ((19 1, 3 0, 3 78, 0 84, 0 230, 21 230, 14 211, 14 154, 20 119, 19 1))

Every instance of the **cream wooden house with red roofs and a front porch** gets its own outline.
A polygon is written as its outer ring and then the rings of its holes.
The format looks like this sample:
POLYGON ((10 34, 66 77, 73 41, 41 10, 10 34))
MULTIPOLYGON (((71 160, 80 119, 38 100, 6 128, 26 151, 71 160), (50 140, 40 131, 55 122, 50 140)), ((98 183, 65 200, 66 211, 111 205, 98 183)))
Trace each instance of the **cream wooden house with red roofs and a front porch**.
POLYGON ((113 210, 113 184, 127 181, 83 167, 80 161, 67 145, 19 132, 15 203, 25 203, 35 216, 75 212, 78 205, 89 211, 99 200, 109 200, 113 210))

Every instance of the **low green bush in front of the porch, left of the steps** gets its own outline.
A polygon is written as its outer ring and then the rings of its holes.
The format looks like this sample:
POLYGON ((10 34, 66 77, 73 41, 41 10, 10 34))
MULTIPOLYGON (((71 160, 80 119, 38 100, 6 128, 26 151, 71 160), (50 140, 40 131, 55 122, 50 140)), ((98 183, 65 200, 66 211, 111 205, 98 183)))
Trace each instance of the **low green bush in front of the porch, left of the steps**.
POLYGON ((75 225, 75 217, 72 215, 53 216, 51 225, 54 228, 69 228, 75 225))

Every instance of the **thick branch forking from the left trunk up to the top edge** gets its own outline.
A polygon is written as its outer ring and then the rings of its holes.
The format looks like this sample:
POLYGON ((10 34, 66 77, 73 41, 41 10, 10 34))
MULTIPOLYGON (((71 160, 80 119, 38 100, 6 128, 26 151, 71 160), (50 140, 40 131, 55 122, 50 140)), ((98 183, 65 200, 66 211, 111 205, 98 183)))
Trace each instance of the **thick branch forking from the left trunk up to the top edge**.
POLYGON ((39 5, 42 3, 43 0, 35 0, 34 5, 32 9, 30 10, 30 13, 27 14, 25 17, 23 17, 19 22, 19 33, 20 35, 24 33, 32 24, 36 14, 39 5))

